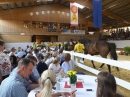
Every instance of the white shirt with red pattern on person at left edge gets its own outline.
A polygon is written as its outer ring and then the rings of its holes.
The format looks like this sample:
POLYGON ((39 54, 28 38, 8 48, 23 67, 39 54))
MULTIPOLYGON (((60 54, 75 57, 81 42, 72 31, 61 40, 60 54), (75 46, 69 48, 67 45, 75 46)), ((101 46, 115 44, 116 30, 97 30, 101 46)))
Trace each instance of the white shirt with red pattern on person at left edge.
POLYGON ((9 75, 11 72, 10 58, 3 52, 0 52, 0 72, 2 76, 9 75))

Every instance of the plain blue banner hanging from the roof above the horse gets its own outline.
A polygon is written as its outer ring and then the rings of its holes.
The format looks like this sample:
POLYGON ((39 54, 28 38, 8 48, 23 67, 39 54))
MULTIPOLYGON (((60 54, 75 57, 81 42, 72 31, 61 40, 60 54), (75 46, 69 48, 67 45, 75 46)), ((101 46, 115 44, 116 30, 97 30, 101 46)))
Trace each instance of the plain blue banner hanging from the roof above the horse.
POLYGON ((93 0, 94 28, 102 27, 102 0, 93 0))

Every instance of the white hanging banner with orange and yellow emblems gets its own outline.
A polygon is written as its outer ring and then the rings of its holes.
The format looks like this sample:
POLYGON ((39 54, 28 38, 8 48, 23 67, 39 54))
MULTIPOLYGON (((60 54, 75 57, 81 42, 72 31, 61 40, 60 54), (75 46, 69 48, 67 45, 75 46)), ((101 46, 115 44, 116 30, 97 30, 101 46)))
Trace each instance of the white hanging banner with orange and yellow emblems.
POLYGON ((70 3, 70 23, 71 26, 78 26, 78 7, 70 3))

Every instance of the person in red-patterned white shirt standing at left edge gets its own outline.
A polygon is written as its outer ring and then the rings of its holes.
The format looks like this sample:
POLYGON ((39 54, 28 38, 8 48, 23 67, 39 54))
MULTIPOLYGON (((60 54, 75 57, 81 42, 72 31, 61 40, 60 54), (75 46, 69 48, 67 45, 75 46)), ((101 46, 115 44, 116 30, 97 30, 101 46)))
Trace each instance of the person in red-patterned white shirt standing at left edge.
POLYGON ((12 67, 9 56, 3 53, 4 47, 5 47, 5 42, 3 40, 0 40, 0 75, 1 75, 0 79, 1 81, 9 76, 11 72, 11 67, 12 67))

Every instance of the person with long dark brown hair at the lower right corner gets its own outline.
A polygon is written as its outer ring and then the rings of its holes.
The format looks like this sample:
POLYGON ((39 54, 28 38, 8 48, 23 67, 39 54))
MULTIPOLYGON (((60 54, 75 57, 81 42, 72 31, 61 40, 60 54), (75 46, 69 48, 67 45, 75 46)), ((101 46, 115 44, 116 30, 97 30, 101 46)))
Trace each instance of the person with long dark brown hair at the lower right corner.
POLYGON ((100 72, 97 76, 96 97, 123 97, 116 93, 116 80, 109 72, 100 72))

